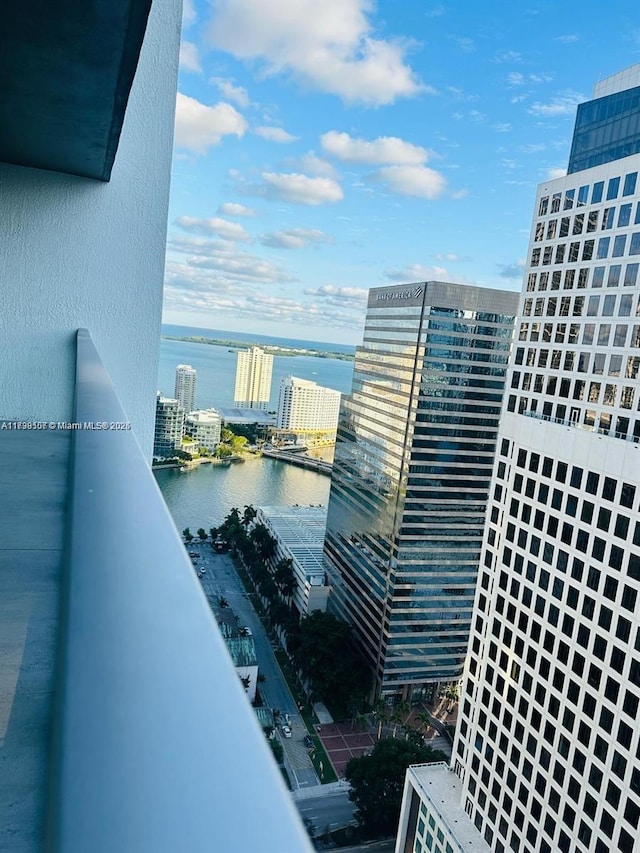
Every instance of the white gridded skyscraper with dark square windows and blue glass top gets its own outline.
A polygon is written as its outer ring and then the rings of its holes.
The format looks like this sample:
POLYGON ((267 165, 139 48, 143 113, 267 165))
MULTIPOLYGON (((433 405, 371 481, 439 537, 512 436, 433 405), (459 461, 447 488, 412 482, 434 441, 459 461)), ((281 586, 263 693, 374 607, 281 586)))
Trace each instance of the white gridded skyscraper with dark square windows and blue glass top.
POLYGON ((454 745, 498 853, 638 850, 640 65, 595 95, 598 165, 538 188, 454 745))

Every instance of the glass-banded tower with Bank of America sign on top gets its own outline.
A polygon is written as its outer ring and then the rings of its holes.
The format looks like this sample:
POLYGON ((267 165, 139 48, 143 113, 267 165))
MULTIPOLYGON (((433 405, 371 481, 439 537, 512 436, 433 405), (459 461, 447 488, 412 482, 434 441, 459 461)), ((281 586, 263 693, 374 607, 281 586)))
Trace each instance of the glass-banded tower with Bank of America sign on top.
POLYGON ((443 282, 369 291, 325 553, 330 608, 378 694, 462 672, 517 301, 443 282))

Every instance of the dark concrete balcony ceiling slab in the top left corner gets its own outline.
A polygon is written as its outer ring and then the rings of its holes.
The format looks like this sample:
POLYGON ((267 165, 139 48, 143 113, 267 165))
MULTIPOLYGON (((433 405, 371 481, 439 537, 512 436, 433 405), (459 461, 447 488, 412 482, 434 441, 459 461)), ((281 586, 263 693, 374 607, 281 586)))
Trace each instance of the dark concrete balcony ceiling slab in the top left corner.
POLYGON ((5 0, 0 161, 108 181, 151 0, 5 0))

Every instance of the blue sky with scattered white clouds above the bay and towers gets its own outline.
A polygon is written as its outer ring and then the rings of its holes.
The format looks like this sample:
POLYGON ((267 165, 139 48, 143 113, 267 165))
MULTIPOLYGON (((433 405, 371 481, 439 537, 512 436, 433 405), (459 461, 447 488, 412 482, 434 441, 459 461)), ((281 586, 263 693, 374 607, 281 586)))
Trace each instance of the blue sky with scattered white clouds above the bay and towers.
POLYGON ((185 0, 168 323, 358 343, 369 287, 520 290, 634 5, 185 0))

